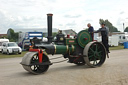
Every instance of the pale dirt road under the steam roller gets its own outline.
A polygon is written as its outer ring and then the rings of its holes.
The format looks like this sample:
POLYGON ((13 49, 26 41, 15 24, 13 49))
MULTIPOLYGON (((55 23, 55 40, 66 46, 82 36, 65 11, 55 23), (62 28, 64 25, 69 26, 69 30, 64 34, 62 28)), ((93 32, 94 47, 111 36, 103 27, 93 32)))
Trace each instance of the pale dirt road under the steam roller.
POLYGON ((0 59, 0 85, 128 85, 128 50, 111 51, 98 68, 63 62, 41 75, 26 72, 20 61, 0 59))

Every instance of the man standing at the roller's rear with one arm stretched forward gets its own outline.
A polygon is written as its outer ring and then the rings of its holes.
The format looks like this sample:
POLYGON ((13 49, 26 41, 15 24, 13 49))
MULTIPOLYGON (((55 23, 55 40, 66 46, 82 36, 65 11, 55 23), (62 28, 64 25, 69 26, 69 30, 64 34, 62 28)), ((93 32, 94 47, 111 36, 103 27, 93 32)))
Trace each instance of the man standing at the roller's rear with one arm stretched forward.
POLYGON ((108 53, 110 53, 109 52, 109 45, 108 45, 108 36, 109 36, 109 29, 108 29, 108 27, 106 27, 105 24, 102 23, 101 24, 101 28, 99 30, 95 31, 94 33, 98 33, 98 32, 101 32, 102 43, 105 46, 106 51, 108 53))

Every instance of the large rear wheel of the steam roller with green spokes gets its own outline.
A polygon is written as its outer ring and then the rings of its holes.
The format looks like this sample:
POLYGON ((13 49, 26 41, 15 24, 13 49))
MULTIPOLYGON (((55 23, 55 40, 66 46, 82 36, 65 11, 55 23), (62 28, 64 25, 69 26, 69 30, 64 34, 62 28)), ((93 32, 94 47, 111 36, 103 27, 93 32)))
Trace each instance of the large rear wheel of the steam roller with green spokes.
POLYGON ((84 48, 84 57, 87 65, 91 67, 101 66, 106 59, 106 49, 102 43, 99 42, 90 42, 84 48))

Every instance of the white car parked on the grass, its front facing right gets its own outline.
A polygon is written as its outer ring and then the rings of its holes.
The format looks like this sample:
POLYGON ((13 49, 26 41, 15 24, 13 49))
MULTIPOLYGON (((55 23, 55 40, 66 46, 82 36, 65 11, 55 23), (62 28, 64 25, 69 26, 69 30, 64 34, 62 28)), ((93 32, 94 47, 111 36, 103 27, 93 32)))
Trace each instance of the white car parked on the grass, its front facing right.
POLYGON ((12 54, 18 53, 21 54, 22 49, 15 42, 4 42, 2 44, 2 53, 12 54))

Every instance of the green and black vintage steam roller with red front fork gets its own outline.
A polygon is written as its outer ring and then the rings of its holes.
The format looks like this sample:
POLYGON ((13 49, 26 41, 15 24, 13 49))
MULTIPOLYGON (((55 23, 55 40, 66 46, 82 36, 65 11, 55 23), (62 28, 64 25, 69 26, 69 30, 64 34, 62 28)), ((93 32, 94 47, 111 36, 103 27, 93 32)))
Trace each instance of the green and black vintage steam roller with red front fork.
MULTIPOLYGON (((80 31, 76 37, 70 38, 64 34, 58 34, 56 40, 52 37, 52 16, 47 14, 48 42, 39 42, 33 39, 34 44, 21 61, 23 68, 33 74, 41 74, 54 64, 49 55, 62 54, 68 63, 76 65, 88 65, 90 67, 101 66, 106 59, 106 49, 100 42, 93 41, 88 31, 80 31)), ((58 59, 54 58, 54 59, 58 59)), ((58 61, 61 62, 61 61, 58 61)))

